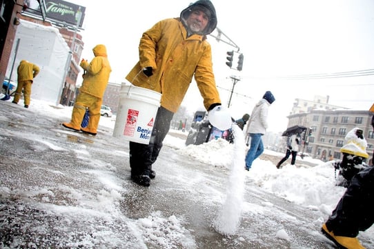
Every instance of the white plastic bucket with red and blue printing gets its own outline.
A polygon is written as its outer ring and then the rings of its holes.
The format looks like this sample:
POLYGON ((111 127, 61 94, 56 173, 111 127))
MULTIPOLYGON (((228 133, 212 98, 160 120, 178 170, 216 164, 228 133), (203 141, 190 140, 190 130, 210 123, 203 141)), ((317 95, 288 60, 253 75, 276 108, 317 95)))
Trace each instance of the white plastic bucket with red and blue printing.
POLYGON ((122 83, 113 137, 149 144, 161 93, 122 83))

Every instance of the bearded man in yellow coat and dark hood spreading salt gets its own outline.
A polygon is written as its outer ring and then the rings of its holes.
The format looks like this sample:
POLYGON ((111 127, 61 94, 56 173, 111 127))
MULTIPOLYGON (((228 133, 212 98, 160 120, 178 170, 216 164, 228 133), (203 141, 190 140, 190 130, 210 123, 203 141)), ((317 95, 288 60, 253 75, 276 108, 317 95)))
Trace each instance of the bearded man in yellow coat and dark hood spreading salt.
POLYGON ((206 41, 206 35, 216 26, 213 4, 199 0, 182 10, 179 18, 157 22, 140 39, 139 61, 126 79, 162 94, 149 145, 130 142, 131 179, 141 186, 150 186, 150 179, 155 177, 152 163, 194 75, 205 108, 211 110, 221 105, 211 48, 206 41))

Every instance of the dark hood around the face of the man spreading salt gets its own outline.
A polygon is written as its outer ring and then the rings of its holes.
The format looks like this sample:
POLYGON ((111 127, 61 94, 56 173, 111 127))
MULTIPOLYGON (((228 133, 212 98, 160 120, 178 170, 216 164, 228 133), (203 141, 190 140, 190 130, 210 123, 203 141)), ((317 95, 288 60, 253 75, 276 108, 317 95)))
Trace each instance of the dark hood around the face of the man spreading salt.
POLYGON ((213 6, 213 3, 209 0, 196 1, 195 3, 191 4, 190 6, 182 10, 181 21, 182 23, 185 23, 185 20, 188 18, 193 8, 198 8, 198 7, 206 8, 210 12, 209 23, 206 26, 205 30, 202 32, 202 34, 205 34, 205 35, 210 34, 217 27, 217 14, 215 13, 215 7, 213 6))

